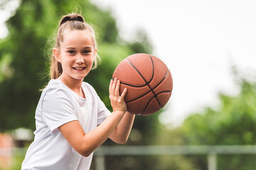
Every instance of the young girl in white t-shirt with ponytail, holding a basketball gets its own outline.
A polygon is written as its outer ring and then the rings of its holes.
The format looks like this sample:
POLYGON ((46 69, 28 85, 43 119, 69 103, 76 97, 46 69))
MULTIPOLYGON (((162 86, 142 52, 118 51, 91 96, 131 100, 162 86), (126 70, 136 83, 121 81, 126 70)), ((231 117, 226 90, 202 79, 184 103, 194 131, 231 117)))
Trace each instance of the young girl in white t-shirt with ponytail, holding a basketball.
POLYGON ((119 80, 110 81, 110 113, 83 81, 93 63, 94 31, 78 14, 63 16, 50 65, 52 79, 38 102, 35 139, 21 169, 90 169, 92 152, 108 137, 127 141, 134 122, 124 102, 127 89, 119 96, 119 80))

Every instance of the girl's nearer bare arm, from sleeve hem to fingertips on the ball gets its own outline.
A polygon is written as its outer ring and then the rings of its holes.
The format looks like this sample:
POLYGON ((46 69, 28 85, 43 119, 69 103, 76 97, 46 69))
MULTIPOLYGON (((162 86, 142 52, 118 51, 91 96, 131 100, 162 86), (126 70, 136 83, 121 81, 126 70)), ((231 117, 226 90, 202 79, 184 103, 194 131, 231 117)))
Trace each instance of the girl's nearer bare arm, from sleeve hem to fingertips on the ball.
MULTIPOLYGON (((63 134, 65 139, 68 140, 70 145, 78 153, 85 157, 89 156, 97 147, 102 145, 102 143, 105 142, 108 137, 110 137, 112 132, 115 131, 114 134, 116 134, 117 132, 121 131, 121 129, 127 127, 127 123, 122 123, 121 128, 117 128, 117 125, 120 123, 123 117, 126 119, 128 118, 128 120, 131 119, 130 115, 124 116, 124 114, 127 112, 127 106, 124 101, 124 96, 127 89, 124 89, 121 96, 119 96, 119 85, 120 82, 117 81, 117 79, 110 81, 110 101, 113 112, 102 124, 97 126, 97 128, 85 133, 78 120, 65 123, 59 127, 60 132, 63 134)), ((132 125, 130 126, 132 127, 132 125)), ((127 135, 129 135, 129 132, 127 135)), ((119 140, 116 135, 114 135, 114 139, 119 140)))

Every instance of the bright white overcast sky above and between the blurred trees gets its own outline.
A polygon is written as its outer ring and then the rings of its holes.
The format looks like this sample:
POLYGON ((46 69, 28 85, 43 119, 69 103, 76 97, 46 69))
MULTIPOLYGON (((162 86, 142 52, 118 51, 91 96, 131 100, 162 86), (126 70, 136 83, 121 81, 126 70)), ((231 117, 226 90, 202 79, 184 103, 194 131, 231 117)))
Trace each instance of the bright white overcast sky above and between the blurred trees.
MULTIPOLYGON (((169 67, 174 90, 162 123, 180 125, 189 113, 218 106, 219 92, 237 94, 232 64, 242 72, 255 71, 256 1, 91 1, 112 10, 122 38, 143 28, 152 55, 169 67)), ((7 33, 4 20, 1 15, 0 38, 7 33)))

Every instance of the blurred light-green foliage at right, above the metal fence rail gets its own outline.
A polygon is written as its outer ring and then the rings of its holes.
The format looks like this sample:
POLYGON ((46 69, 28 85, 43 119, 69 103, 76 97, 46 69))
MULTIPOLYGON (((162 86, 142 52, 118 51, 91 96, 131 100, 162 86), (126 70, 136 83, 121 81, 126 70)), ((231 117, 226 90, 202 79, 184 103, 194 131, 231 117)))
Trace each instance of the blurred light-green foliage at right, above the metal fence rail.
POLYGON ((220 105, 191 114, 182 132, 189 145, 255 145, 256 81, 234 72, 237 96, 219 94, 220 105))

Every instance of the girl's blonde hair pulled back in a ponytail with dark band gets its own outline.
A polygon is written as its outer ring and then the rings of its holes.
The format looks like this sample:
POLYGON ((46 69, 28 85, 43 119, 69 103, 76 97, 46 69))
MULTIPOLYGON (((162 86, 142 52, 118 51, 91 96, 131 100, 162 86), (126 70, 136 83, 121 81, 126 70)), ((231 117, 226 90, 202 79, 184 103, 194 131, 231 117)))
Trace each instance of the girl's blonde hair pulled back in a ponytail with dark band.
MULTIPOLYGON (((94 48, 97 49, 95 31, 93 30, 92 26, 90 26, 88 23, 85 23, 84 18, 80 14, 71 13, 63 16, 60 19, 54 46, 57 49, 60 48, 60 42, 63 42, 63 34, 65 30, 89 30, 92 35, 92 40, 94 42, 94 48)), ((61 63, 55 59, 53 53, 50 57, 50 78, 58 79, 58 77, 60 77, 63 72, 61 63)), ((100 56, 96 53, 92 69, 95 69, 97 67, 98 60, 100 60, 100 56)))

